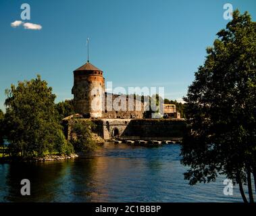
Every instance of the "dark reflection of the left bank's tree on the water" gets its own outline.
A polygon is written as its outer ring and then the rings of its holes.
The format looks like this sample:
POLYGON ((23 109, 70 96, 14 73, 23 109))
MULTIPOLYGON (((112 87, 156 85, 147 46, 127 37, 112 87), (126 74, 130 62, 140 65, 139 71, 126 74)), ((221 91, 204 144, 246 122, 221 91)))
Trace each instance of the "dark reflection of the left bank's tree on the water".
MULTIPOLYGON (((6 165, 5 165, 6 166, 6 165)), ((61 190, 70 168, 70 163, 14 163, 8 165, 6 175, 7 196, 11 202, 50 202, 57 194, 52 190, 61 190), (20 194, 20 181, 30 180, 31 196, 20 194)))

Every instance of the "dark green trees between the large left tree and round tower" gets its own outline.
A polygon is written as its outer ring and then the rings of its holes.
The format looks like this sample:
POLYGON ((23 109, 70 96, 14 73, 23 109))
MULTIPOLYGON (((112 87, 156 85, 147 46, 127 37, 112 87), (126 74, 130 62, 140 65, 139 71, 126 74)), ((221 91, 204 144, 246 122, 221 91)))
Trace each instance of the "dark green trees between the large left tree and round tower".
POLYGON ((59 121, 64 117, 73 115, 74 111, 74 100, 61 101, 55 105, 57 113, 59 113, 59 121))

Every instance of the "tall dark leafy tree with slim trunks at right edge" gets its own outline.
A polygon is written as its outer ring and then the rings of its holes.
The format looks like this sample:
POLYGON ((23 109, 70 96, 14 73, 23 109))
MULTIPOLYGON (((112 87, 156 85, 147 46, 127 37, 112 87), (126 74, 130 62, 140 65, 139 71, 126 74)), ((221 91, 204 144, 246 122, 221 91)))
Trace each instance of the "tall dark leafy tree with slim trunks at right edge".
POLYGON ((207 48, 203 66, 188 88, 182 164, 190 184, 215 181, 218 173, 238 184, 247 202, 256 190, 256 25, 247 12, 236 10, 226 29, 207 48))

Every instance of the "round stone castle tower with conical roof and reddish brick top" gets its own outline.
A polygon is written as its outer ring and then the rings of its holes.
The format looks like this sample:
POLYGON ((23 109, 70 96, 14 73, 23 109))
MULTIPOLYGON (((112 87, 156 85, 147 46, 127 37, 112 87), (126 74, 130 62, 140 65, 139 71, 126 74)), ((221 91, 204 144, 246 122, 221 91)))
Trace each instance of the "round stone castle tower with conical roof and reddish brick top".
POLYGON ((102 117, 105 78, 102 70, 87 61, 74 70, 74 103, 76 113, 84 117, 102 117))

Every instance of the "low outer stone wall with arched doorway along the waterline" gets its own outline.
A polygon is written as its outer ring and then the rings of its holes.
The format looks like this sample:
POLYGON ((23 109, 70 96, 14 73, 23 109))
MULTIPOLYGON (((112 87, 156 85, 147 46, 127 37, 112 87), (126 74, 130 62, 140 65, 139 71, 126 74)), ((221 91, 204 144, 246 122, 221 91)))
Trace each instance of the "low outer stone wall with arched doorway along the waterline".
POLYGON ((100 119, 97 132, 105 140, 175 140, 186 130, 184 119, 100 119))

